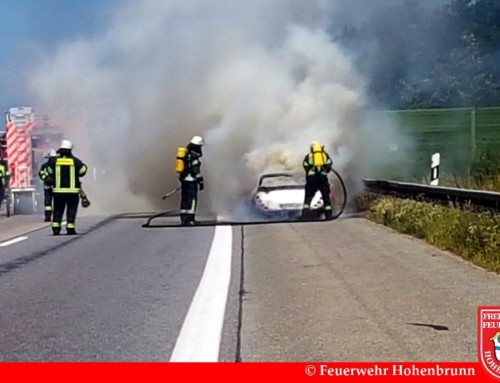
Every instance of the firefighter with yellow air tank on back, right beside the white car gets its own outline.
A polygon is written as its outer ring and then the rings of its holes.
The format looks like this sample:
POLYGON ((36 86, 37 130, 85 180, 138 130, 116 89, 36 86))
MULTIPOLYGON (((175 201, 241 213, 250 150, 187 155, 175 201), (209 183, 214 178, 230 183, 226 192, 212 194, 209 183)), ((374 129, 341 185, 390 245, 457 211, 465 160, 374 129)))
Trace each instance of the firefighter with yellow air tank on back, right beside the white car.
POLYGON ((325 218, 330 219, 333 212, 328 173, 332 170, 332 160, 328 153, 325 152, 325 147, 319 142, 313 142, 310 147, 310 152, 304 158, 303 166, 306 172, 306 186, 302 218, 313 218, 311 202, 316 192, 319 190, 323 197, 325 218))

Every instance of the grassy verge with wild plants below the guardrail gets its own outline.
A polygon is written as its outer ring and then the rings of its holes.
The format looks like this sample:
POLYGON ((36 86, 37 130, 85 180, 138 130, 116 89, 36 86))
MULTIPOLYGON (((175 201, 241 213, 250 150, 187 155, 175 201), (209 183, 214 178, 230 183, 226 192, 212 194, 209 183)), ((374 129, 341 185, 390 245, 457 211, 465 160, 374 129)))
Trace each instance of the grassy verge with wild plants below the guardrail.
POLYGON ((500 272, 500 214, 382 197, 367 218, 500 272))

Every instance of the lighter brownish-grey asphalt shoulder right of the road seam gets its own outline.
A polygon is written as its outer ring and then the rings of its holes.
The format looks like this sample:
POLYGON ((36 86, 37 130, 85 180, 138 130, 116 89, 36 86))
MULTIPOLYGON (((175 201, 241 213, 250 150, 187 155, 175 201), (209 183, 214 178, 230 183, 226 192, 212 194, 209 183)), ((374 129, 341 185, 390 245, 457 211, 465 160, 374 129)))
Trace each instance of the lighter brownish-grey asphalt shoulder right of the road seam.
POLYGON ((477 361, 500 276, 361 218, 244 231, 245 361, 477 361))

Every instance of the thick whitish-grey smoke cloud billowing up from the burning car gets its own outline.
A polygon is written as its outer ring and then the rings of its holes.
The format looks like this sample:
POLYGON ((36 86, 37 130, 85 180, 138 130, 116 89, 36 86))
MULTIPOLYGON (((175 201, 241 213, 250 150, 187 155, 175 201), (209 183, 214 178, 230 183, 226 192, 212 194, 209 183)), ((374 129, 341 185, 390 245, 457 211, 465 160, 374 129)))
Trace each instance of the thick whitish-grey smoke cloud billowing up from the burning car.
POLYGON ((358 168, 364 83, 328 36, 324 3, 124 3, 100 39, 48 55, 32 90, 41 108, 86 108, 91 128, 72 137, 78 148, 90 134, 87 160, 105 174, 94 199, 118 210, 155 207, 178 185, 176 147, 202 134, 202 203, 224 213, 264 172, 301 175, 313 140, 341 173, 358 168))

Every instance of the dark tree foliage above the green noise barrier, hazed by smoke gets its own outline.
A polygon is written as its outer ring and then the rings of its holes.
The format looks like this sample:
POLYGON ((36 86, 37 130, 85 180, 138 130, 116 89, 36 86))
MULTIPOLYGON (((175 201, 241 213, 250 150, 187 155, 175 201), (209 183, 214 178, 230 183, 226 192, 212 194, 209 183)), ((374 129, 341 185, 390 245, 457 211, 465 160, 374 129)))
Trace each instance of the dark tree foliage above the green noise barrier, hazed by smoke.
POLYGON ((339 41, 387 108, 500 106, 500 0, 383 9, 339 41))

